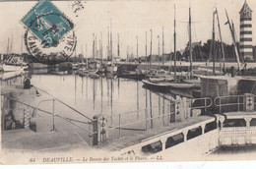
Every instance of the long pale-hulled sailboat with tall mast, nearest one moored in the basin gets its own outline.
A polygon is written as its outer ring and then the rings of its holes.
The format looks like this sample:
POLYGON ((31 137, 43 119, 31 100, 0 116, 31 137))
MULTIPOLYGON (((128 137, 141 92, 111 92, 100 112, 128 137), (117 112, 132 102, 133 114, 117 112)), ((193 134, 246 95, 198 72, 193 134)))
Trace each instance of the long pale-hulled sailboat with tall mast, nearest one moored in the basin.
MULTIPOLYGON (((189 9, 189 16, 190 16, 190 9, 189 9)), ((189 21, 191 24, 191 18, 189 18, 189 21)), ((142 82, 144 84, 155 86, 155 87, 161 87, 161 88, 179 88, 179 89, 191 88, 194 86, 193 83, 177 82, 177 78, 176 78, 176 8, 175 6, 174 6, 174 34, 173 35, 174 35, 174 80, 169 81, 164 79, 163 81, 153 81, 150 79, 150 80, 143 80, 142 82)), ((190 35, 190 41, 191 41, 191 35, 190 35)))

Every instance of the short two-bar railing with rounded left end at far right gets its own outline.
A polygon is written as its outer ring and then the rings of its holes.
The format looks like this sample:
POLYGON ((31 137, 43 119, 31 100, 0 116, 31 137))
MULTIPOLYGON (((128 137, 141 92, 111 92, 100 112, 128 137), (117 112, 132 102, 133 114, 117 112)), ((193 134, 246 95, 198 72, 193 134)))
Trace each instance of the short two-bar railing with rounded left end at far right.
POLYGON ((244 95, 228 95, 228 96, 218 96, 215 98, 214 103, 219 107, 220 113, 230 112, 230 111, 240 111, 243 108, 243 98, 244 95))

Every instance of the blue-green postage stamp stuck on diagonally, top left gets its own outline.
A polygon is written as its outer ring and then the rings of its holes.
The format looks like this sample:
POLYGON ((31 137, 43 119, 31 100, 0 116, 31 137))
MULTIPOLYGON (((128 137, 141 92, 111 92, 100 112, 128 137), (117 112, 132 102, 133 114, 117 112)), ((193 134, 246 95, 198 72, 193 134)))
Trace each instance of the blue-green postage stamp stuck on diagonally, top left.
POLYGON ((56 46, 63 35, 74 28, 74 24, 48 0, 40 0, 22 23, 45 47, 56 46))

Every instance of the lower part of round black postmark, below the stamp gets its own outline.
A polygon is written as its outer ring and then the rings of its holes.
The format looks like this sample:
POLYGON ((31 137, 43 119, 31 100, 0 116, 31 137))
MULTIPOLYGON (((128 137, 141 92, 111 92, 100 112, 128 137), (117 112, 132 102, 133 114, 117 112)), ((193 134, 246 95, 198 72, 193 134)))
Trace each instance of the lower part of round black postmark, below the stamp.
POLYGON ((40 63, 47 65, 54 65, 67 61, 73 54, 77 38, 75 32, 70 30, 63 37, 51 47, 45 46, 30 30, 25 32, 25 44, 28 51, 40 63))

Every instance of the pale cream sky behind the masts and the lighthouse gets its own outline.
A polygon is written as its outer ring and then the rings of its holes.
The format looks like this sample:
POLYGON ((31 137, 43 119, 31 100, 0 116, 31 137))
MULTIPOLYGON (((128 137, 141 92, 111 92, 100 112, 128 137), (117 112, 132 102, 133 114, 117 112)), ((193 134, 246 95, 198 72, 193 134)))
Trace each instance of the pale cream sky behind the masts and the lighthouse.
MULTIPOLYGON (((0 2, 0 53, 6 53, 8 37, 13 35, 13 52, 27 52, 22 36, 26 28, 21 23, 22 18, 32 9, 37 1, 0 2)), ((76 53, 92 56, 93 33, 98 40, 102 32, 103 57, 106 57, 107 26, 112 21, 113 54, 117 55, 117 33, 120 39, 120 57, 126 58, 127 46, 129 52, 136 56, 136 36, 139 41, 139 56, 145 55, 146 31, 148 33, 148 55, 150 54, 150 29, 153 30, 153 54, 161 54, 161 33, 164 29, 164 53, 173 51, 173 20, 174 4, 176 6, 176 33, 177 50, 184 49, 188 41, 188 16, 191 4, 192 15, 192 42, 212 38, 213 10, 218 8, 220 23, 225 43, 231 43, 230 31, 226 22, 224 9, 229 19, 233 21, 236 37, 239 39, 239 11, 244 0, 97 0, 82 1, 83 10, 74 13, 74 1, 53 1, 75 24, 74 31, 77 35, 76 53), (87 46, 87 47, 86 47, 87 46)), ((256 10, 256 1, 247 0, 252 11, 256 10)), ((253 14, 254 18, 254 14, 253 14)), ((253 20, 256 27, 256 20, 253 20)), ((217 29, 217 28, 216 28, 217 29)), ((217 32, 217 39, 219 33, 217 32)), ((253 44, 256 42, 256 33, 253 33, 253 44)))

